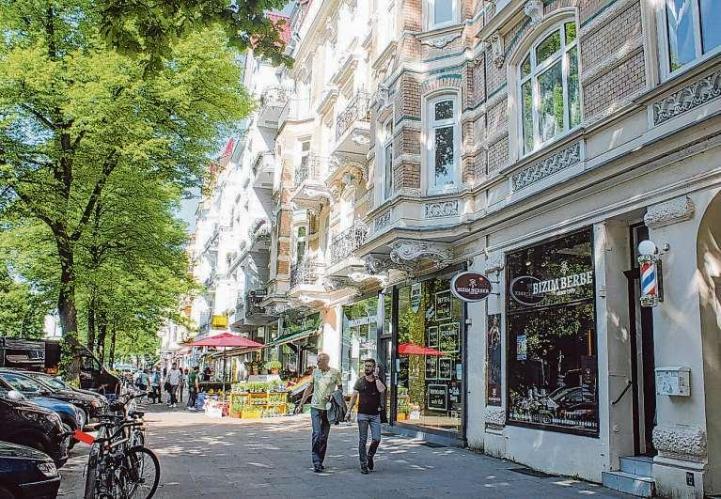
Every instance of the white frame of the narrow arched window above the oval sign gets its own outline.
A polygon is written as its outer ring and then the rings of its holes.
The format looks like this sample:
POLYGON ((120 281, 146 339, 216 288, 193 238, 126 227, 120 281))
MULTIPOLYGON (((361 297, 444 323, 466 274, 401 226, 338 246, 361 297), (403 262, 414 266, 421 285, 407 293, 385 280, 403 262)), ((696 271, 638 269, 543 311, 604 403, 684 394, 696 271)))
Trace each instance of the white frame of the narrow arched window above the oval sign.
POLYGON ((460 175, 460 152, 461 152, 461 113, 460 113, 460 95, 457 91, 432 94, 426 98, 424 106, 424 141, 426 147, 425 154, 425 192, 427 194, 443 194, 448 192, 456 192, 461 187, 460 175), (453 117, 444 120, 435 119, 435 105, 438 102, 450 100, 453 102, 453 117), (453 127, 453 184, 445 186, 435 185, 435 130, 438 128, 453 127))

